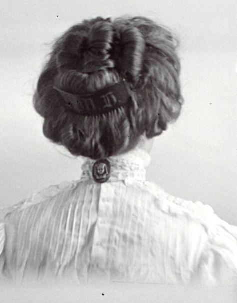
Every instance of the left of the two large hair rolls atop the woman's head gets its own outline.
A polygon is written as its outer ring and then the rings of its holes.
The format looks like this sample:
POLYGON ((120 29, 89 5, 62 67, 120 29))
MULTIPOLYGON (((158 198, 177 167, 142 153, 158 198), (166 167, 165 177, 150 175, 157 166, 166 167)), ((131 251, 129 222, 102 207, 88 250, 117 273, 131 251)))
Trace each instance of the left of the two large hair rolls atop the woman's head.
POLYGON ((95 21, 87 30, 69 34, 57 55, 59 70, 91 73, 114 67, 113 60, 109 59, 112 40, 113 29, 109 19, 95 21))

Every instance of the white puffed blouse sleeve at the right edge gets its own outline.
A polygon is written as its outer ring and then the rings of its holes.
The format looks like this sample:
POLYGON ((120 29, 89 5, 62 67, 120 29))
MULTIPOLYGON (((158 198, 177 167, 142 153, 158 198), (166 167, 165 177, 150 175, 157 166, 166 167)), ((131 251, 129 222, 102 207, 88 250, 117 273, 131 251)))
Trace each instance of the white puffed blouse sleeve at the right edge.
POLYGON ((203 284, 237 283, 237 226, 215 215, 197 270, 203 284))

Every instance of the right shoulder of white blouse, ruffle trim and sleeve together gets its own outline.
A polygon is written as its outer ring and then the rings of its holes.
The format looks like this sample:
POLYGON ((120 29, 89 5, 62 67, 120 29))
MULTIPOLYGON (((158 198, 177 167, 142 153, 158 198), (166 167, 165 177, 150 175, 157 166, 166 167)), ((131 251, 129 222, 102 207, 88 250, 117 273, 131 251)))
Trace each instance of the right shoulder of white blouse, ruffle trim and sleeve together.
POLYGON ((237 283, 237 226, 220 219, 211 206, 200 201, 176 198, 151 182, 146 182, 146 187, 163 211, 186 216, 205 228, 207 237, 194 276, 210 284, 237 283))

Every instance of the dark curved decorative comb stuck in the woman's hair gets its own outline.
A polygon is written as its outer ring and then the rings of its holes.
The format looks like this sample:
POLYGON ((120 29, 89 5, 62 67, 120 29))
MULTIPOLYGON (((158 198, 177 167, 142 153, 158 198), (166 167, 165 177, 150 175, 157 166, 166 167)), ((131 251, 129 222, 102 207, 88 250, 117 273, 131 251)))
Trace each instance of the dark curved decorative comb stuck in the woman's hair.
POLYGON ((127 104, 132 95, 132 91, 125 78, 119 83, 91 94, 72 94, 56 86, 53 86, 53 88, 62 96, 63 105, 79 115, 107 113, 127 104))

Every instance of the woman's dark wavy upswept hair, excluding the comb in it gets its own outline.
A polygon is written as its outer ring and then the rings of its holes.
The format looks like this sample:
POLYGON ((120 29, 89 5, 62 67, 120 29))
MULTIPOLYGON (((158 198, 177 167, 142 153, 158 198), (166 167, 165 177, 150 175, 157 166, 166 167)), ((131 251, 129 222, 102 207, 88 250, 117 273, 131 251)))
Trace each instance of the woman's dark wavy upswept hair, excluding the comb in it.
POLYGON ((128 151, 142 134, 160 135, 183 102, 177 45, 168 29, 145 17, 97 17, 69 28, 54 43, 34 94, 44 135, 92 159, 128 151), (102 115, 73 113, 53 89, 91 93, 124 76, 134 92, 131 102, 102 115))

